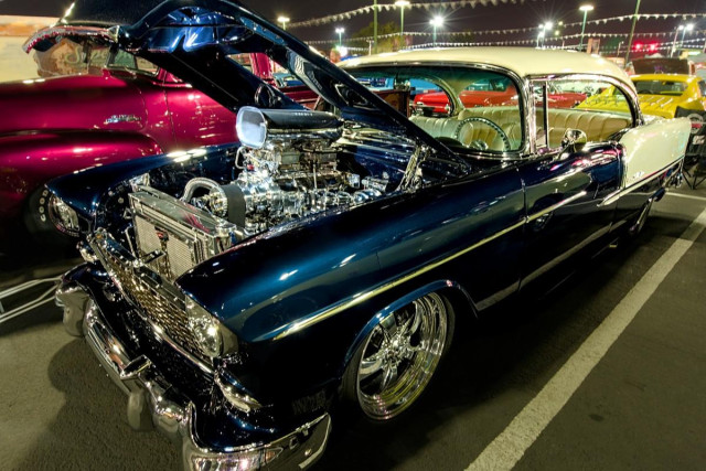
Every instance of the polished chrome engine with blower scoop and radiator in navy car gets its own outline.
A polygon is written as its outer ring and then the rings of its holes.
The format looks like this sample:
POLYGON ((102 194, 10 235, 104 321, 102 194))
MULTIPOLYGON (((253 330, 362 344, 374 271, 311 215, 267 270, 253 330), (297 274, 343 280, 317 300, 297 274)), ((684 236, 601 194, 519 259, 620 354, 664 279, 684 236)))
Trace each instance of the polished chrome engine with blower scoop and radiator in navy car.
POLYGON ((193 178, 180 199, 149 185, 130 194, 136 255, 167 279, 272 226, 387 190, 387 179, 342 165, 333 115, 243 107, 237 132, 234 180, 193 178))

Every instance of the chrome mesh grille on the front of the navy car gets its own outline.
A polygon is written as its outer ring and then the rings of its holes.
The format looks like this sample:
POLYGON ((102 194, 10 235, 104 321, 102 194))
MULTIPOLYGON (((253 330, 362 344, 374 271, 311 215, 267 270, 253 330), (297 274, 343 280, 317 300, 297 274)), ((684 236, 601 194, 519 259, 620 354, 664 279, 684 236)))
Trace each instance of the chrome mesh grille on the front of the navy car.
POLYGON ((173 344, 197 360, 206 364, 211 363, 211 360, 199 349, 199 343, 189 329, 186 312, 178 304, 178 299, 173 301, 168 299, 133 272, 132 268, 114 251, 101 247, 99 254, 121 291, 138 308, 140 314, 153 325, 160 336, 167 336, 173 344))

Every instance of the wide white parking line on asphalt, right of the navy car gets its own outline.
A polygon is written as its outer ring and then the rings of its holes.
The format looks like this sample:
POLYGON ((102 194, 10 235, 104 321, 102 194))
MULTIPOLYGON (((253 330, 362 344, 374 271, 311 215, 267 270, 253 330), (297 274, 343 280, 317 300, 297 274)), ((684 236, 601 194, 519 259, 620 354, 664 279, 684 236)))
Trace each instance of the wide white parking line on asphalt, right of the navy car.
POLYGON ((510 470, 561 410, 706 227, 706 210, 674 240, 603 322, 467 470, 510 470))

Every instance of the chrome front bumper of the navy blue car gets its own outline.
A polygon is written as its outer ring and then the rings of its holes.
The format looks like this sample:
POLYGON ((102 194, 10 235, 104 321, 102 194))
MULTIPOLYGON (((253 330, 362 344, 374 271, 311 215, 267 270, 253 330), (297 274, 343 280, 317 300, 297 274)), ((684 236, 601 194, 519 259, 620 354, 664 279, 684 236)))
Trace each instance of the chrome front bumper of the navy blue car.
POLYGON ((324 414, 269 443, 216 451, 200 447, 193 433, 194 405, 145 355, 133 356, 116 336, 89 295, 69 281, 56 291, 64 324, 83 334, 108 376, 128 395, 128 422, 138 430, 158 428, 182 445, 186 470, 304 469, 323 452, 331 418, 324 414))

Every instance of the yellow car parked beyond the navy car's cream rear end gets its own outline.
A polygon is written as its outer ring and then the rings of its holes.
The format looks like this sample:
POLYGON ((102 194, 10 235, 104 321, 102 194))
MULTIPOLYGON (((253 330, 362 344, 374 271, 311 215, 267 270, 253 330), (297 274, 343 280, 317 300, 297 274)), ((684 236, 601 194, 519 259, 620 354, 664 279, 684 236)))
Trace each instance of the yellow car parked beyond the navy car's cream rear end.
MULTIPOLYGON (((630 77, 638 90, 640 108, 644 115, 663 118, 688 117, 703 122, 706 115, 706 82, 702 77, 681 74, 644 74, 630 77)), ((592 95, 578 108, 606 111, 628 111, 628 104, 610 86, 592 95)))

